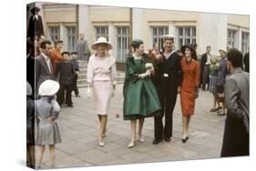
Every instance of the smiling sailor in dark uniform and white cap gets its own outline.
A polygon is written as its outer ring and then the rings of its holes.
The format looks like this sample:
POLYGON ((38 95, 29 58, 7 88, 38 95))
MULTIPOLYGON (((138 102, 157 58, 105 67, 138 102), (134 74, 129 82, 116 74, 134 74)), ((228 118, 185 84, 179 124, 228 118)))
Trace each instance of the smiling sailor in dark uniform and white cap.
POLYGON ((182 71, 180 57, 173 50, 174 36, 164 37, 164 50, 161 56, 154 60, 156 75, 153 77, 158 90, 161 103, 161 115, 154 117, 155 139, 153 145, 159 144, 164 138, 169 142, 172 136, 173 109, 176 104, 177 94, 180 91, 182 71), (163 126, 163 116, 165 116, 165 126, 163 126))

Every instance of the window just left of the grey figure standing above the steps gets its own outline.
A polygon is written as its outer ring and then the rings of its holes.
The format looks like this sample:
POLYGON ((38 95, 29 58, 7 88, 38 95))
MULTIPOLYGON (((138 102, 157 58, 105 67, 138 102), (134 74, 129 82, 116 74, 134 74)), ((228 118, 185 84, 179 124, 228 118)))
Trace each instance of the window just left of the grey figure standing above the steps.
POLYGON ((72 52, 75 50, 77 41, 77 29, 76 26, 67 26, 67 51, 72 52))

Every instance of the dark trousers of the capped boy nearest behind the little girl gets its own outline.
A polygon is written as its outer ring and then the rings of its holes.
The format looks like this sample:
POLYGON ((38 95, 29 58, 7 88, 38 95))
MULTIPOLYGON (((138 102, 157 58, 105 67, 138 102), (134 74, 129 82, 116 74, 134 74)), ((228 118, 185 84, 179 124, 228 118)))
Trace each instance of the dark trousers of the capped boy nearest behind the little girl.
POLYGON ((59 90, 58 90, 57 96, 56 96, 56 101, 59 106, 61 106, 63 104, 64 98, 65 98, 65 91, 66 91, 67 106, 71 106, 73 104, 72 99, 71 99, 72 84, 59 86, 59 90))

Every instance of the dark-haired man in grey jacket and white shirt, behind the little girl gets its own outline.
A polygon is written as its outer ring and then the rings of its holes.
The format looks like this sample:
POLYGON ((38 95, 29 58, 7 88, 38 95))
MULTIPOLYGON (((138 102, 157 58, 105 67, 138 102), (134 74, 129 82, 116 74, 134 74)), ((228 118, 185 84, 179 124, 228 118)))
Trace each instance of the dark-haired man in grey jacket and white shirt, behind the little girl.
POLYGON ((36 57, 36 95, 38 94, 39 85, 47 79, 55 80, 53 65, 49 55, 51 54, 51 42, 45 40, 41 43, 41 55, 36 57))

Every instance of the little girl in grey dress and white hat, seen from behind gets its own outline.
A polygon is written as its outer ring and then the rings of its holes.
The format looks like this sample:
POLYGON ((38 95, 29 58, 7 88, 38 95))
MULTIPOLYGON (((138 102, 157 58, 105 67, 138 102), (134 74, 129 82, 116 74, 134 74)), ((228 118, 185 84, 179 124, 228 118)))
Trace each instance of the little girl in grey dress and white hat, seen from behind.
POLYGON ((40 148, 39 168, 42 164, 46 146, 49 146, 51 166, 55 166, 55 145, 61 143, 61 137, 56 124, 56 119, 61 109, 54 99, 58 88, 59 84, 53 80, 46 80, 39 86, 39 95, 41 98, 36 100, 36 118, 39 120, 36 134, 36 145, 40 148))

